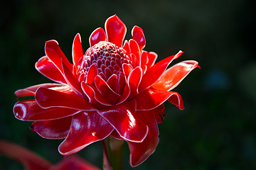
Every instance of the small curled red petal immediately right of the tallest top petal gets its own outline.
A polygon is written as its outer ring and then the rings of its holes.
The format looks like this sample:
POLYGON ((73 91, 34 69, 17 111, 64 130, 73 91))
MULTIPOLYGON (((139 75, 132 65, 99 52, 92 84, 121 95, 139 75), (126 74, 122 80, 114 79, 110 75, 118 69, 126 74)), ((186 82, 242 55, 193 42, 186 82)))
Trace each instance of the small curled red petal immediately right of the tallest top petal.
POLYGON ((142 28, 139 28, 138 26, 134 26, 134 28, 132 28, 132 39, 136 40, 140 50, 142 50, 146 46, 144 32, 142 28))

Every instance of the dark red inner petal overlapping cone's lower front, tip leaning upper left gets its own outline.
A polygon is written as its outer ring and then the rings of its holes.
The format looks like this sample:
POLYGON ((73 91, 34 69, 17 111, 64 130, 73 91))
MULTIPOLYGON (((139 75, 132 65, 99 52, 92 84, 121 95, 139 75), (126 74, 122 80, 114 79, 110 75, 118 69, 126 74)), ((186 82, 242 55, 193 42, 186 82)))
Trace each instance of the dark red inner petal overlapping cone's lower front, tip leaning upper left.
POLYGON ((115 93, 110 86, 107 85, 106 81, 103 80, 100 76, 95 77, 95 86, 98 91, 100 91, 100 94, 110 102, 110 104, 116 104, 119 99, 120 95, 115 93))

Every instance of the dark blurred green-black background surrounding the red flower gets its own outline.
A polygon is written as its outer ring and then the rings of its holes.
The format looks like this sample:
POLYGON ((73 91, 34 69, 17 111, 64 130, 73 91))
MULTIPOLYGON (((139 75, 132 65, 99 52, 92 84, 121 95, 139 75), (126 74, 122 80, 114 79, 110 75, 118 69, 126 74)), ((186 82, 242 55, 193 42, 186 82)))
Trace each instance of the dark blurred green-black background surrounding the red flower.
MULTIPOLYGON (((183 50, 174 63, 201 66, 174 89, 185 110, 166 103, 159 146, 134 169, 256 169, 255 8, 246 0, 1 1, 0 139, 52 163, 63 158, 57 150, 62 140, 45 140, 29 130, 31 123, 14 118, 14 91, 50 82, 34 68, 46 40, 58 40, 71 60, 76 33, 85 51, 92 30, 114 13, 127 26, 126 39, 134 25, 143 28, 145 50, 158 60, 183 50)), ((100 142, 79 154, 102 167, 100 142)), ((128 162, 124 145, 124 169, 132 169, 128 162)), ((22 166, 0 154, 0 169, 22 166)))

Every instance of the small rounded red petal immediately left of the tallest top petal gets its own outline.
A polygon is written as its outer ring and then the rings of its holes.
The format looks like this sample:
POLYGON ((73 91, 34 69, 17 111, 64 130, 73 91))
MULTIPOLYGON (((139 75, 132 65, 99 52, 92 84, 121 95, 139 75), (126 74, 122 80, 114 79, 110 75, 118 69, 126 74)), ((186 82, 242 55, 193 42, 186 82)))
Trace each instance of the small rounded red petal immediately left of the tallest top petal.
POLYGON ((90 42, 90 47, 93 45, 97 44, 100 41, 106 41, 107 40, 107 35, 105 31, 102 28, 97 28, 92 32, 89 38, 90 42))

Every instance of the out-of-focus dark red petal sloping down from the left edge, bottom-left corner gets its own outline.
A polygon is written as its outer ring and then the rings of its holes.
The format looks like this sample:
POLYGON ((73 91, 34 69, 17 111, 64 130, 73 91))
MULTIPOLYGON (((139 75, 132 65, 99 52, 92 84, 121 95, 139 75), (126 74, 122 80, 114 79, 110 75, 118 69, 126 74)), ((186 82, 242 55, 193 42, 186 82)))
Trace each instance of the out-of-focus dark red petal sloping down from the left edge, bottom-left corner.
POLYGON ((48 170, 52 166, 45 159, 28 149, 4 140, 0 140, 0 153, 21 162, 26 170, 48 170))

